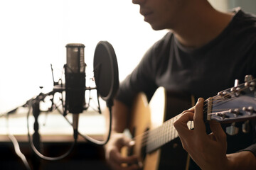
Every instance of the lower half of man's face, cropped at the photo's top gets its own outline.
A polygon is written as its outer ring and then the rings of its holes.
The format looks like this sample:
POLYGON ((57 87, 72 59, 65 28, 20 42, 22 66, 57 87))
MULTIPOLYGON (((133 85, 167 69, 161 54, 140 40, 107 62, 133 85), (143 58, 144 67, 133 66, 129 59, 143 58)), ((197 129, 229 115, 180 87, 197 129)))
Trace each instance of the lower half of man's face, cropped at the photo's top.
POLYGON ((140 6, 144 21, 154 30, 174 29, 183 16, 188 0, 132 0, 140 6))

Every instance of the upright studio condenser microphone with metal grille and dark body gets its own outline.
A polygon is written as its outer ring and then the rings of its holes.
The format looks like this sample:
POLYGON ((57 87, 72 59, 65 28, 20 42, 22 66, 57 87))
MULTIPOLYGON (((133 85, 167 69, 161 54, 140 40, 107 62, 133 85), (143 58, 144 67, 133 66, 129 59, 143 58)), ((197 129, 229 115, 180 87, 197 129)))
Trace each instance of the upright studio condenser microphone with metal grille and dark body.
POLYGON ((73 114, 74 137, 78 135, 78 118, 85 105, 85 45, 72 43, 66 45, 67 64, 65 64, 65 112, 73 114))

